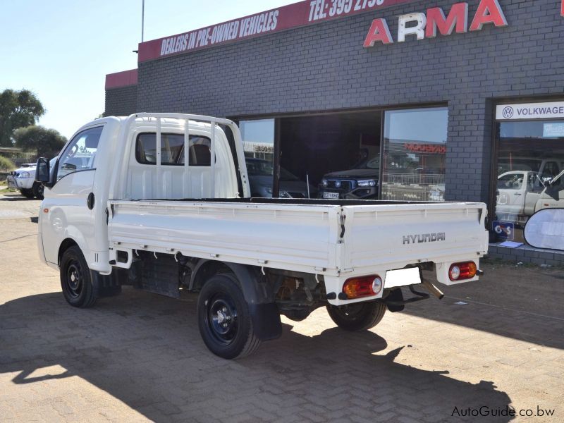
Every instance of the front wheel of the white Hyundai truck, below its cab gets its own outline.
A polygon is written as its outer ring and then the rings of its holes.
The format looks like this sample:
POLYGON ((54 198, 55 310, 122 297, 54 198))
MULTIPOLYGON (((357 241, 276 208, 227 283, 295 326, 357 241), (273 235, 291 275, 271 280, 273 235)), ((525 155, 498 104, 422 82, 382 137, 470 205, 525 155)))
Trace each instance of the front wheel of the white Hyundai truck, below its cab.
POLYGON ((92 307, 98 298, 93 286, 92 271, 78 246, 69 247, 61 257, 61 288, 68 304, 73 307, 92 307))

